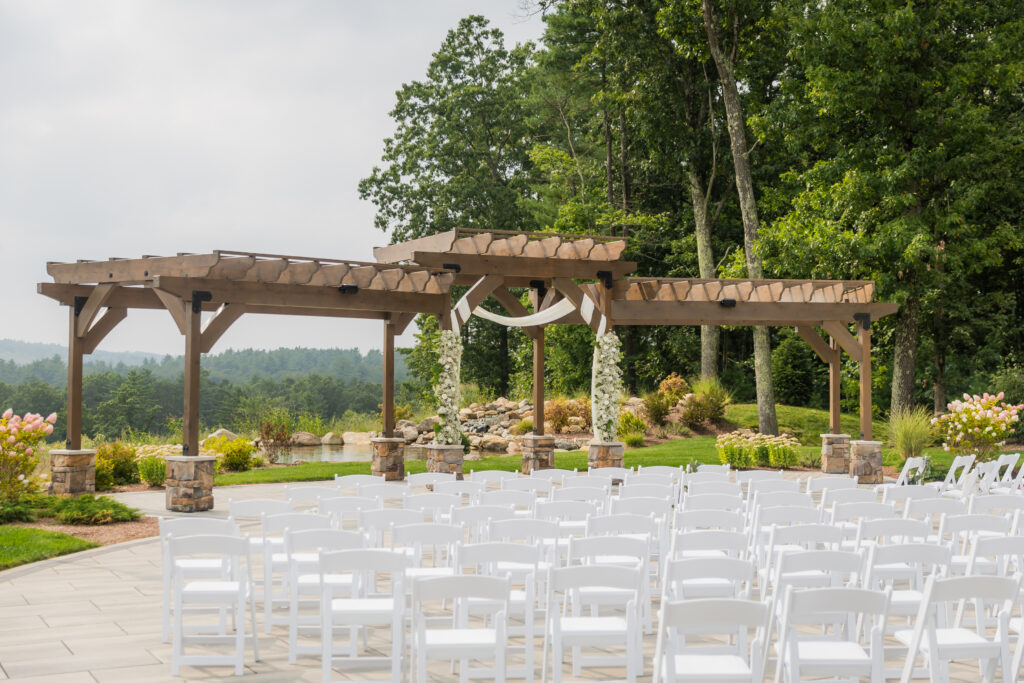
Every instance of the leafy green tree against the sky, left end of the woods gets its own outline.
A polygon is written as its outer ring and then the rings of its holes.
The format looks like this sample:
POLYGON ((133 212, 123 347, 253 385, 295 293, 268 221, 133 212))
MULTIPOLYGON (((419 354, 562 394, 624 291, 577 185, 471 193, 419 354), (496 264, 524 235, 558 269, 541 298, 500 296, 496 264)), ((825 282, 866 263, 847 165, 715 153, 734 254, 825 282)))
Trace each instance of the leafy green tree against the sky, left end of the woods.
POLYGON ((423 81, 401 86, 383 166, 359 181, 393 242, 454 227, 523 229, 530 162, 522 79, 531 46, 508 50, 478 15, 450 31, 423 81))

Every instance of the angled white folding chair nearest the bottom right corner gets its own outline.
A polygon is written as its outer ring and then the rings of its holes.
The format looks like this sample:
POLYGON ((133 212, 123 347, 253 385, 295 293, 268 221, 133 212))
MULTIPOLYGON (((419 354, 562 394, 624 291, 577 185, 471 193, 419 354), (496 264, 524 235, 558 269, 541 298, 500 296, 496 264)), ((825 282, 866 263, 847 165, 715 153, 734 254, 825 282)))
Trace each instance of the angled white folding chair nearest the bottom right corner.
POLYGON ((1009 623, 1019 599, 1020 587, 1019 575, 929 578, 914 628, 894 634, 907 647, 900 681, 909 683, 916 657, 921 654, 933 683, 949 680, 948 663, 952 659, 978 659, 981 678, 986 683, 993 680, 998 665, 1002 668, 1004 682, 1012 683, 1016 679, 1016 669, 1010 658, 1009 623), (975 620, 976 628, 973 630, 947 623, 947 607, 961 601, 973 603, 976 615, 994 610, 995 633, 988 635, 984 618, 975 620))

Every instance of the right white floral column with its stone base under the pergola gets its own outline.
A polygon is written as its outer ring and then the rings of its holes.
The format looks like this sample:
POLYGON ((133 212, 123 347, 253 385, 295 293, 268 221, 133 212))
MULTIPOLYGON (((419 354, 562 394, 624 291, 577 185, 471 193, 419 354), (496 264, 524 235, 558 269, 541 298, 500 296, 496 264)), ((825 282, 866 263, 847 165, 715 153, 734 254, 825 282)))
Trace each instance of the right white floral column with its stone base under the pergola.
POLYGON ((620 368, 622 344, 613 332, 598 335, 594 344, 594 366, 591 373, 591 417, 594 440, 588 461, 591 468, 622 467, 623 443, 618 435, 618 396, 623 391, 623 371, 620 368))

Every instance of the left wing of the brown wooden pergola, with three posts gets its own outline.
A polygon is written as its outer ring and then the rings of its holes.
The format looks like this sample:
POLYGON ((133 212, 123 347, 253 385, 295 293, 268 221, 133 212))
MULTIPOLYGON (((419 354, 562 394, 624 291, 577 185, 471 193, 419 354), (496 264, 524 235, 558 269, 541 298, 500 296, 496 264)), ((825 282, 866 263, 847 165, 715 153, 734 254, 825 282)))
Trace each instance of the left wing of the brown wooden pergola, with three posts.
POLYGON ((394 337, 418 313, 443 317, 454 273, 319 257, 216 251, 48 263, 40 294, 70 310, 68 449, 82 439, 82 358, 131 308, 166 309, 184 336, 182 455, 199 454, 200 357, 247 313, 384 322, 383 432, 394 429, 394 337), (212 312, 205 325, 203 312, 212 312))

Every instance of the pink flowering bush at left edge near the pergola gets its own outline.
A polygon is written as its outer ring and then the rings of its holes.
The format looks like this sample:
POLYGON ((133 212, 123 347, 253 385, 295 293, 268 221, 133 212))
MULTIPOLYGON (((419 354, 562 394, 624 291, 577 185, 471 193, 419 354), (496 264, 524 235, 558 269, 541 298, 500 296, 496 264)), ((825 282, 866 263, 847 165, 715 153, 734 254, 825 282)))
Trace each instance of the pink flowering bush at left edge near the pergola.
POLYGON ((56 413, 44 419, 35 413, 19 417, 7 409, 0 416, 0 503, 15 503, 39 490, 40 482, 33 474, 37 454, 56 421, 56 413))

